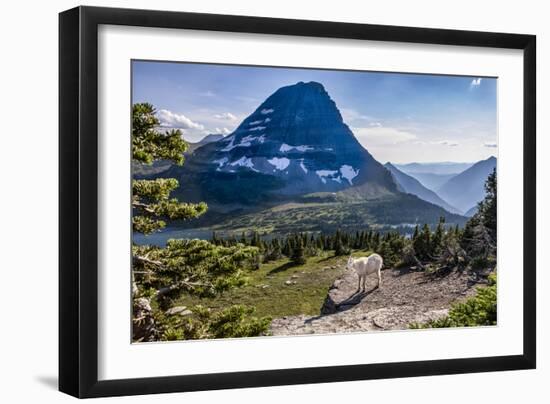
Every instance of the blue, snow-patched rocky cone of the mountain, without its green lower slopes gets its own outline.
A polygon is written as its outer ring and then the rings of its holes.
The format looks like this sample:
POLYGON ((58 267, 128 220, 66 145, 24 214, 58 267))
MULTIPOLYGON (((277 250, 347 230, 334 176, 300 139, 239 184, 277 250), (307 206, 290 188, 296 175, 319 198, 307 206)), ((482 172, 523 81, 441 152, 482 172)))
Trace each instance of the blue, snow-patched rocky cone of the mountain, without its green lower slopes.
POLYGON ((312 192, 373 184, 396 192, 389 172, 357 141, 320 83, 275 91, 237 129, 196 149, 166 176, 181 196, 255 204, 312 192))

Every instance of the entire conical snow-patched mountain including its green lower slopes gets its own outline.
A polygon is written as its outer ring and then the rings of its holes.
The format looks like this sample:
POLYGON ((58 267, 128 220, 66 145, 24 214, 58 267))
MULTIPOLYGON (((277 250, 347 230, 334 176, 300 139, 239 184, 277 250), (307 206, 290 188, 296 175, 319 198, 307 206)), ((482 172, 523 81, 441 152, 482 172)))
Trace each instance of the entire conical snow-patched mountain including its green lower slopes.
POLYGON ((174 197, 208 203, 205 215, 182 228, 284 234, 466 219, 400 192, 315 82, 278 89, 233 133, 188 154, 183 166, 143 177, 176 178, 174 197))

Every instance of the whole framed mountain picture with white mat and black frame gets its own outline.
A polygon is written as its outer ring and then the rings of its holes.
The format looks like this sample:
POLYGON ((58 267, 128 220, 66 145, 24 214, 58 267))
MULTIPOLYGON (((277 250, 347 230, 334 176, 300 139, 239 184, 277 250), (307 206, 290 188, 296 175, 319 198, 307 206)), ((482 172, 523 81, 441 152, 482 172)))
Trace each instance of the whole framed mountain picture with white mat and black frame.
POLYGON ((535 368, 534 36, 59 27, 61 391, 535 368))

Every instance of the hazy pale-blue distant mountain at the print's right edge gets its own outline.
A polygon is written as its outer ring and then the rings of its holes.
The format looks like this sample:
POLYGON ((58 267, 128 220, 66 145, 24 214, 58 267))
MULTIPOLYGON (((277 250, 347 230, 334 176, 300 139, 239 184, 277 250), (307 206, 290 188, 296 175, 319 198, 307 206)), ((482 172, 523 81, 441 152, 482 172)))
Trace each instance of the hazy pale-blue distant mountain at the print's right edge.
POLYGON ((489 157, 456 175, 437 189, 438 195, 453 206, 468 211, 485 197, 485 181, 497 166, 497 159, 489 157))

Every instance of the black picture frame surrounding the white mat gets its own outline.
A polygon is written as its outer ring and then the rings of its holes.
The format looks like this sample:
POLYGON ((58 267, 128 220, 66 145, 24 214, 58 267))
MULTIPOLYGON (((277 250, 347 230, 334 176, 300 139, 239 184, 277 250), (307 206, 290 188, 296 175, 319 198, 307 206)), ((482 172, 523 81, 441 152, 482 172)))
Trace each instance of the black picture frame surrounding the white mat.
POLYGON ((59 15, 59 100, 59 389, 62 392, 84 398, 535 368, 535 36, 77 7, 59 15), (100 24, 523 50, 523 354, 99 381, 97 52, 100 24))

